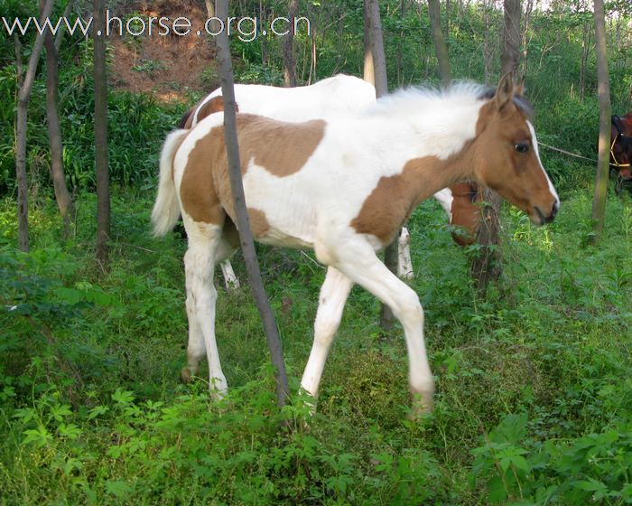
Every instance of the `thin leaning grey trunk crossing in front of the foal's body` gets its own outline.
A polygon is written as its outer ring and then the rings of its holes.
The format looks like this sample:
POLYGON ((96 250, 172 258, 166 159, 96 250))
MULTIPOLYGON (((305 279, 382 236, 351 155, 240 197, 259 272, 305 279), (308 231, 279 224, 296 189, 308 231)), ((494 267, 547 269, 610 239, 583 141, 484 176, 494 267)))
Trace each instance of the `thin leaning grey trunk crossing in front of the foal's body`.
MULTIPOLYGON (((218 17, 226 20, 228 18, 228 0, 218 0, 218 17)), ((246 272, 250 288, 255 296, 256 306, 261 314, 264 324, 265 337, 270 350, 272 364, 274 366, 274 377, 276 379, 276 398, 279 406, 285 404, 290 387, 288 385, 287 374, 285 373, 285 362, 283 361, 283 348, 279 337, 274 314, 265 295, 265 287, 261 279, 259 263, 256 259, 255 242, 253 240, 248 213, 246 211, 246 199, 244 196, 244 185, 241 180, 241 162, 239 160, 239 146, 237 145, 237 127, 235 122, 235 89, 233 88, 233 69, 230 61, 230 48, 228 46, 228 35, 222 32, 218 35, 218 61, 221 73, 222 96, 224 97, 224 133, 226 139, 226 150, 228 155, 228 174, 230 176, 230 188, 233 193, 235 203, 235 213, 237 214, 237 229, 241 249, 246 264, 246 272)))

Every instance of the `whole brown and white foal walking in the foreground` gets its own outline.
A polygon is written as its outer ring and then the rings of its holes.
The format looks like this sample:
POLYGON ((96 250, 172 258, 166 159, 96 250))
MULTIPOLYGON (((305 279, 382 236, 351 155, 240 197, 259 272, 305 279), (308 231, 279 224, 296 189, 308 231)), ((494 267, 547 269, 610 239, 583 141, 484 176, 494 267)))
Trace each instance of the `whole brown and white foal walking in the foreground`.
MULTIPOLYGON (((156 235, 181 213, 189 236, 184 257, 189 317, 188 363, 206 354, 211 388, 228 389, 215 336, 212 267, 237 248, 221 113, 170 134, 161 154, 153 208, 156 235)), ((289 124, 237 115, 246 204, 257 240, 313 248, 325 264, 314 342, 302 388, 318 394, 321 374, 351 286, 393 309, 404 328, 415 410, 432 408, 434 381, 414 290, 376 252, 414 208, 441 188, 484 184, 525 211, 536 225, 560 201, 540 162, 529 107, 505 77, 496 91, 460 85, 445 92, 411 89, 366 112, 289 124)))

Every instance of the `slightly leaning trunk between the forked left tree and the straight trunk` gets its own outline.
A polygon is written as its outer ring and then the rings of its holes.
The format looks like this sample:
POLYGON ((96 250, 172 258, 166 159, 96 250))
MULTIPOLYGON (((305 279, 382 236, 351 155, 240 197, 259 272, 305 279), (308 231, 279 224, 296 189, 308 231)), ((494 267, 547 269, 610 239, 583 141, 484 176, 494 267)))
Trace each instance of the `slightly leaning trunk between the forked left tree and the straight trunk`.
POLYGON ((63 237, 68 239, 70 222, 74 220, 74 205, 66 186, 63 170, 63 144, 61 142, 61 126, 59 105, 57 103, 59 79, 59 59, 52 33, 46 33, 46 118, 48 120, 48 137, 51 143, 51 180, 55 191, 57 206, 63 220, 63 237))

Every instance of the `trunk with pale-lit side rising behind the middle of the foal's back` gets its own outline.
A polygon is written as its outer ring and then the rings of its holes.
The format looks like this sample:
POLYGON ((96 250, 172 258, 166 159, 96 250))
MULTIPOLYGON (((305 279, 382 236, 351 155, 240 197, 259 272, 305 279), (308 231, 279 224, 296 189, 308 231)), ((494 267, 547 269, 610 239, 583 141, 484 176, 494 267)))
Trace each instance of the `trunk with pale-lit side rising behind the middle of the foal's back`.
MULTIPOLYGON (((376 87, 376 97, 380 98, 388 93, 386 77, 386 56, 384 53, 384 38, 382 35, 382 21, 379 14, 377 0, 365 0, 365 79, 376 87)), ((397 272, 398 245, 395 239, 384 251, 384 263, 391 272, 397 272)), ((380 311, 380 326, 386 332, 393 328, 395 316, 386 304, 380 311)))

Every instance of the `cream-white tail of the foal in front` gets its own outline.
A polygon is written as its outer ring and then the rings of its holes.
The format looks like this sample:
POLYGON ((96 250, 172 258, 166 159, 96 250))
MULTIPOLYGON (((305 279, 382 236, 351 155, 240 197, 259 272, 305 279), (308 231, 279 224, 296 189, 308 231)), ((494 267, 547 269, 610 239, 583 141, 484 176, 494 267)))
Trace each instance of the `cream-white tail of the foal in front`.
POLYGON ((174 130, 164 141, 160 154, 160 182, 158 195, 153 204, 153 235, 160 237, 173 229, 180 218, 180 204, 173 183, 173 157, 188 130, 174 130))

